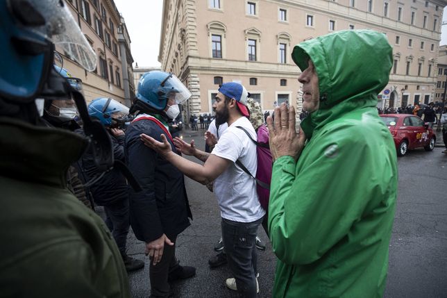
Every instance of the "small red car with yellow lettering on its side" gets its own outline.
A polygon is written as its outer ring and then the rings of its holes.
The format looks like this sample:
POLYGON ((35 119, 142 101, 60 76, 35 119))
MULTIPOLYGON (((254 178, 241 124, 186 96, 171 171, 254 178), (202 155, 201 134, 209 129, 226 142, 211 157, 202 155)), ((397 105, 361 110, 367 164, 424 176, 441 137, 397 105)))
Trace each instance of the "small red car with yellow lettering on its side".
POLYGON ((410 149, 423 147, 425 151, 435 148, 436 135, 423 119, 408 114, 380 115, 396 144, 397 155, 404 156, 410 149))

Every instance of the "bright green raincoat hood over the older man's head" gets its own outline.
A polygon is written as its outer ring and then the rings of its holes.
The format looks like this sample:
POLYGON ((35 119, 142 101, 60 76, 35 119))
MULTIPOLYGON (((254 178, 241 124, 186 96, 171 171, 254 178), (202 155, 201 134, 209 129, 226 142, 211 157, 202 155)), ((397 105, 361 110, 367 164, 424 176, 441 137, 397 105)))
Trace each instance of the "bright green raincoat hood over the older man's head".
POLYGON ((386 36, 371 30, 338 31, 301 42, 292 59, 302 72, 312 60, 319 78, 319 109, 301 123, 309 139, 344 113, 375 107, 393 61, 386 36))

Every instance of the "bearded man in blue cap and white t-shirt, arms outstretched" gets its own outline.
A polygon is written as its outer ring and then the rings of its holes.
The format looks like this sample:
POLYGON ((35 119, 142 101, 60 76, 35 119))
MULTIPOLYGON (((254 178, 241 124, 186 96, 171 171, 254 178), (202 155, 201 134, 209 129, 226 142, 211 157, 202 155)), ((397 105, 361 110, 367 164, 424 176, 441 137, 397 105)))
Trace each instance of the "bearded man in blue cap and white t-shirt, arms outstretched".
POLYGON ((205 162, 203 165, 175 154, 165 135, 162 135, 162 142, 144 134, 142 140, 189 178, 203 185, 214 181, 214 192, 221 209, 223 246, 235 276, 226 280, 226 286, 237 290, 243 297, 256 297, 259 287, 255 277, 255 240, 265 211, 258 199, 255 179, 236 164, 239 160, 255 176, 257 160, 253 153, 256 145, 237 128, 243 127, 256 140, 255 130, 247 119, 250 115, 246 108, 247 97, 248 92, 239 83, 224 83, 219 88, 212 108, 216 122, 227 123, 228 129, 211 153, 196 149, 194 141, 187 144, 179 138, 174 139, 174 144, 183 154, 195 156, 205 162))

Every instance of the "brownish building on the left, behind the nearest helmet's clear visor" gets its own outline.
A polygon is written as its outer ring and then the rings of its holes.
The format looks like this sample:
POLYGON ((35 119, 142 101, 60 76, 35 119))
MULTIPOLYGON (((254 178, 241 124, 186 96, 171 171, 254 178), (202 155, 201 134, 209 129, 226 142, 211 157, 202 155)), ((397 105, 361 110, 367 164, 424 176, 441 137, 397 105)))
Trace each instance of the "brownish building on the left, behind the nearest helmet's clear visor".
POLYGON ((135 96, 130 37, 114 1, 65 0, 65 2, 94 49, 97 65, 94 72, 86 72, 60 51, 63 67, 72 76, 81 78, 87 103, 98 97, 111 97, 122 104, 130 105, 130 99, 135 96))

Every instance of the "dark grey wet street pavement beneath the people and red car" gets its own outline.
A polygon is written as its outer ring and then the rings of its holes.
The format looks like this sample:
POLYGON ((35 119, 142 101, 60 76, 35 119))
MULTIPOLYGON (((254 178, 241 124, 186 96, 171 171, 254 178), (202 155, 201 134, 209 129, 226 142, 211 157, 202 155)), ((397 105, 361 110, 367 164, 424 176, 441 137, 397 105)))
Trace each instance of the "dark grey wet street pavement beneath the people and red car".
MULTIPOLYGON (((204 147, 203 131, 185 131, 184 138, 204 147)), ((438 141, 440 142, 440 140, 438 141)), ((390 244, 387 298, 447 297, 447 156, 436 147, 432 152, 411 151, 398 158, 399 193, 390 244)), ((175 297, 235 297, 224 281, 230 277, 226 266, 211 270, 208 258, 220 237, 220 217, 214 195, 205 186, 186 179, 194 221, 178 236, 177 256, 182 265, 194 265, 194 278, 174 285, 175 297)), ((259 235, 267 236, 262 227, 259 235)), ((144 259, 144 270, 130 274, 133 297, 149 297, 148 258, 144 245, 129 235, 128 253, 144 259)), ((267 242, 258 250, 260 297, 271 297, 276 258, 267 242)))

